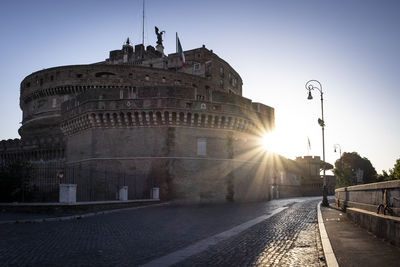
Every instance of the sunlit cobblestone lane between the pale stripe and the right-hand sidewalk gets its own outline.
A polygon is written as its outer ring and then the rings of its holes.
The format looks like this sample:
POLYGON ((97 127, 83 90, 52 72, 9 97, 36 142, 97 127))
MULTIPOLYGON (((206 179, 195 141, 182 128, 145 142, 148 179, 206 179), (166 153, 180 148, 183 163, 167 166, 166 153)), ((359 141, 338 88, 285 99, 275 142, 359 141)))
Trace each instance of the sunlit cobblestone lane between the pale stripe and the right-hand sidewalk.
POLYGON ((176 266, 324 266, 318 201, 290 208, 176 266))

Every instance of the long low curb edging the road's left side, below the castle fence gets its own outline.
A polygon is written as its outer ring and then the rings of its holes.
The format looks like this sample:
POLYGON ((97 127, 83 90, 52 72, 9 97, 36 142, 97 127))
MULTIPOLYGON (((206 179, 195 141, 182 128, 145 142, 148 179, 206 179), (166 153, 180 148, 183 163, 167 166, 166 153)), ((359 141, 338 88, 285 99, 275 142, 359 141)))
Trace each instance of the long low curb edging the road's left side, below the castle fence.
POLYGON ((153 204, 153 205, 145 205, 145 206, 139 206, 139 207, 130 207, 130 208, 122 208, 122 209, 114 209, 114 210, 105 210, 105 211, 84 213, 84 214, 79 214, 79 215, 62 216, 62 217, 0 221, 0 225, 1 224, 15 224, 15 223, 41 223, 41 222, 57 222, 57 221, 61 222, 61 221, 68 221, 68 220, 74 220, 74 219, 83 219, 83 218, 93 217, 96 215, 117 213, 120 211, 138 210, 138 209, 151 208, 151 207, 167 206, 169 204, 170 204, 170 202, 165 202, 165 203, 159 203, 159 204, 153 204))

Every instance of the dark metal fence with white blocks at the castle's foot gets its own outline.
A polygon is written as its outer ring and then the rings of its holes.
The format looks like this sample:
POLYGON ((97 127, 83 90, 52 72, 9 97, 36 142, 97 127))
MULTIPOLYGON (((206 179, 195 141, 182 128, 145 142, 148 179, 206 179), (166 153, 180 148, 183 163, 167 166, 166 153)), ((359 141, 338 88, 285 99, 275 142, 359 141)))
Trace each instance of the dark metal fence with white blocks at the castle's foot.
POLYGON ((22 202, 57 202, 60 184, 76 184, 78 202, 117 200, 122 186, 128 186, 129 200, 147 199, 154 187, 154 181, 145 175, 81 166, 33 166, 21 173, 22 202))

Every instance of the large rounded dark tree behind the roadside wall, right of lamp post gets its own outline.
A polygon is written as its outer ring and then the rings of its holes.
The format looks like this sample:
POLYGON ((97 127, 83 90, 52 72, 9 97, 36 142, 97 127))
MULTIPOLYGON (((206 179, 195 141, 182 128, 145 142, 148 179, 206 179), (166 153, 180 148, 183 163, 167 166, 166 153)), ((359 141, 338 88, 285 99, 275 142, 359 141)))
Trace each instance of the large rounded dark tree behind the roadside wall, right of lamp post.
POLYGON ((367 158, 362 158, 357 152, 344 152, 342 157, 335 162, 333 173, 338 186, 357 184, 356 173, 361 170, 363 183, 378 182, 375 168, 367 158))

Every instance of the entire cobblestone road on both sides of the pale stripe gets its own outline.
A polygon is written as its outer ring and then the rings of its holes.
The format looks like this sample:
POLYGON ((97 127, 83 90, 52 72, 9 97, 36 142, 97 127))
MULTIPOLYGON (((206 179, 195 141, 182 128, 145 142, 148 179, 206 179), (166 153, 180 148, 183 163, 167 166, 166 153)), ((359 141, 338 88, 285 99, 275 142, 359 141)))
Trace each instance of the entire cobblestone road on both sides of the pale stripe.
POLYGON ((0 225, 0 265, 137 266, 288 206, 177 265, 320 266, 317 202, 173 205, 64 222, 0 225))

